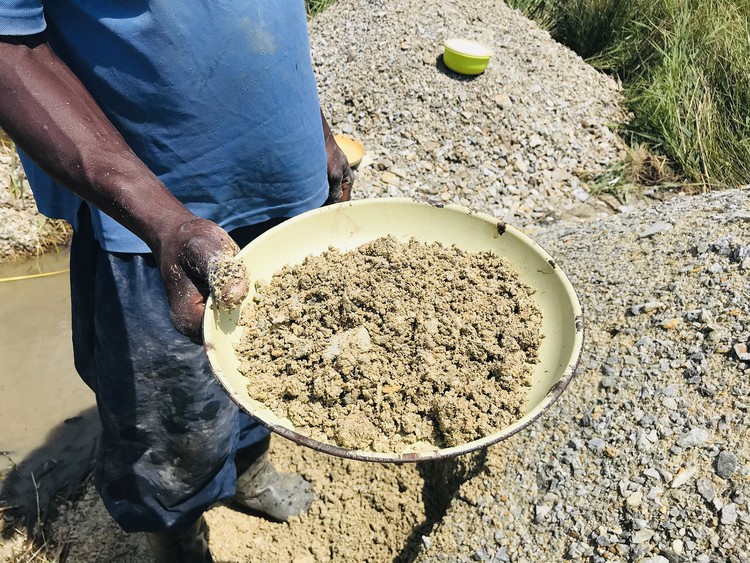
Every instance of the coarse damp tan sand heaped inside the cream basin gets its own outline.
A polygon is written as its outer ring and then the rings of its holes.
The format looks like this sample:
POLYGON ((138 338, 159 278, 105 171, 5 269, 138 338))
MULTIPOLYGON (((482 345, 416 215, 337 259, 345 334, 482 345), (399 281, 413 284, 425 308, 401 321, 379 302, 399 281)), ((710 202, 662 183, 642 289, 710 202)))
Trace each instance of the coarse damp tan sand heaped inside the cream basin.
POLYGON ((522 414, 541 312, 507 260, 384 237, 258 284, 250 396, 308 436, 376 452, 466 443, 522 414))

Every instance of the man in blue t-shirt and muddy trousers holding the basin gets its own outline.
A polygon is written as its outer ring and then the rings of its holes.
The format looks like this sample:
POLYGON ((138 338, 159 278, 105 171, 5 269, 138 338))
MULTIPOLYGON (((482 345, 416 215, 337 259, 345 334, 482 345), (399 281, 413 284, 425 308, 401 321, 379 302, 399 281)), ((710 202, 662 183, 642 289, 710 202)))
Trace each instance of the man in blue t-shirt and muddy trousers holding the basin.
POLYGON ((348 199, 302 0, 3 0, 0 126, 40 210, 75 230, 75 362, 96 394, 110 514, 147 532, 157 561, 192 562, 211 561, 202 514, 217 500, 306 510, 309 484, 269 464, 267 430, 199 345, 218 259, 348 199))

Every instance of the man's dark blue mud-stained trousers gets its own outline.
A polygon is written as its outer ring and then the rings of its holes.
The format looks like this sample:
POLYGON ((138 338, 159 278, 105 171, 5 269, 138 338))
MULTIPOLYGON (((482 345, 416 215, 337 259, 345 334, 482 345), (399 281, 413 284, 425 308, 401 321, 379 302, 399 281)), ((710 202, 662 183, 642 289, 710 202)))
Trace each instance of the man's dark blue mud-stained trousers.
MULTIPOLYGON (((270 225, 231 233, 244 246, 270 225)), ((178 333, 151 254, 106 252, 84 205, 71 246, 73 349, 96 394, 94 484, 127 532, 188 525, 235 492, 235 454, 268 430, 238 411, 178 333)), ((255 454, 257 455, 257 454, 255 454)))

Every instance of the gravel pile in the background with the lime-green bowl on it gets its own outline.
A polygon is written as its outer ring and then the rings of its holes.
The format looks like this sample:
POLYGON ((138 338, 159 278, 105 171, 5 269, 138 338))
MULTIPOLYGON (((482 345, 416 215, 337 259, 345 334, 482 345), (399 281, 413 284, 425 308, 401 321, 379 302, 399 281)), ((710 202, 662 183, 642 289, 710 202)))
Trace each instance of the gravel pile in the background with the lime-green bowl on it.
POLYGON ((618 84, 501 1, 340 0, 310 34, 332 127, 368 151, 356 197, 544 223, 591 215, 585 178, 623 157, 610 130, 626 119, 618 84), (454 36, 494 52, 484 74, 443 65, 454 36))

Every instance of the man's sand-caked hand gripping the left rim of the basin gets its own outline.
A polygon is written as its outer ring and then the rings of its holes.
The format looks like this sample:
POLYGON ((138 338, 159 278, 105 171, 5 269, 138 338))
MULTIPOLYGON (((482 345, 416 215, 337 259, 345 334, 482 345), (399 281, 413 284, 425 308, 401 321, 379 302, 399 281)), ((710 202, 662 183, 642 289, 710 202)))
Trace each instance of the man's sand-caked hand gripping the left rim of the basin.
POLYGON ((203 342, 203 311, 209 291, 219 304, 234 306, 247 295, 244 268, 232 257, 239 247, 221 227, 204 219, 184 222, 158 237, 156 256, 169 298, 172 322, 193 342, 203 342))

